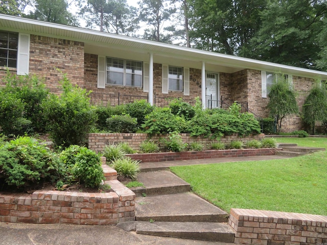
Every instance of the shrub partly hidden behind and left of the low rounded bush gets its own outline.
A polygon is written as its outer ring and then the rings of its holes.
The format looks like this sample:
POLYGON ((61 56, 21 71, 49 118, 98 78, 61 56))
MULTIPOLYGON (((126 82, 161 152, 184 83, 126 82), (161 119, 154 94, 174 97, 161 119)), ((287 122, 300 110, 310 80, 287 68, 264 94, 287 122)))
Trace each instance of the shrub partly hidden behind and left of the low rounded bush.
POLYGON ((107 106, 97 106, 95 108, 95 113, 97 114, 97 121, 96 125, 100 130, 106 130, 107 129, 107 118, 113 116, 113 115, 123 115, 125 114, 125 105, 119 105, 119 106, 110 106, 109 104, 107 106))

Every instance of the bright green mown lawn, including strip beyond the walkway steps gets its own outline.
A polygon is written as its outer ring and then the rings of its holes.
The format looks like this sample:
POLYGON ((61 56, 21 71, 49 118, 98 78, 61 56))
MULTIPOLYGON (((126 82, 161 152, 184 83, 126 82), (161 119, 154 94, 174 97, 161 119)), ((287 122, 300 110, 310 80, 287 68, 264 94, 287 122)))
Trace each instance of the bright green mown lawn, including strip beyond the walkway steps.
MULTIPOLYGON (((327 138, 277 138, 277 142, 327 148, 327 138)), ((248 208, 327 215, 326 160, 326 152, 317 152, 281 160, 171 169, 195 193, 227 212, 248 208)))

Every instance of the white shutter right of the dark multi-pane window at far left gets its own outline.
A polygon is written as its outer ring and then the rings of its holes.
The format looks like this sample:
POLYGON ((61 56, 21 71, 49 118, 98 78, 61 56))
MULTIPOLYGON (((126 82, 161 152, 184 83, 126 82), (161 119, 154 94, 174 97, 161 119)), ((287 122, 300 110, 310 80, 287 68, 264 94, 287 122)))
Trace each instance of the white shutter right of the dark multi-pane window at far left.
POLYGON ((19 33, 17 52, 17 75, 29 74, 30 34, 19 33))

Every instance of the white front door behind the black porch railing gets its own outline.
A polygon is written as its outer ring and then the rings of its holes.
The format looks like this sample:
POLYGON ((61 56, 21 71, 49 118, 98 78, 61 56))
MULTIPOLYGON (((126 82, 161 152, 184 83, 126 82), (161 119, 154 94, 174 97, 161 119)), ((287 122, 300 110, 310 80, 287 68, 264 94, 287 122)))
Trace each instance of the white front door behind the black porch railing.
POLYGON ((219 107, 219 80, 217 73, 206 72, 205 79, 205 107, 219 107))

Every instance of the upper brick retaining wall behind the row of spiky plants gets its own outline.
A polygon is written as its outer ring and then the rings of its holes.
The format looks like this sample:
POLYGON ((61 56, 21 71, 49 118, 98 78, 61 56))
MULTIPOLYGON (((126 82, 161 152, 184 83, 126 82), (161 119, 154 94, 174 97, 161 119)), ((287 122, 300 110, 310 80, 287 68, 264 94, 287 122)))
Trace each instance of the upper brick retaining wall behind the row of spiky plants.
MULTIPOLYGON (((211 145, 212 139, 202 138, 202 137, 190 137, 190 134, 180 134, 184 143, 199 142, 202 143, 207 149, 211 145)), ((221 142, 227 144, 232 140, 241 140, 246 142, 248 140, 256 139, 260 140, 265 137, 264 134, 238 137, 235 135, 225 136, 220 139, 221 142)), ((127 142, 133 150, 139 150, 139 145, 142 141, 149 139, 150 136, 145 133, 135 133, 135 134, 118 134, 118 133, 90 133, 88 134, 88 148, 92 151, 101 152, 105 145, 127 142)), ((161 150, 164 150, 165 146, 160 139, 168 139, 168 134, 155 134, 151 135, 151 140, 159 142, 159 147, 161 150)))

